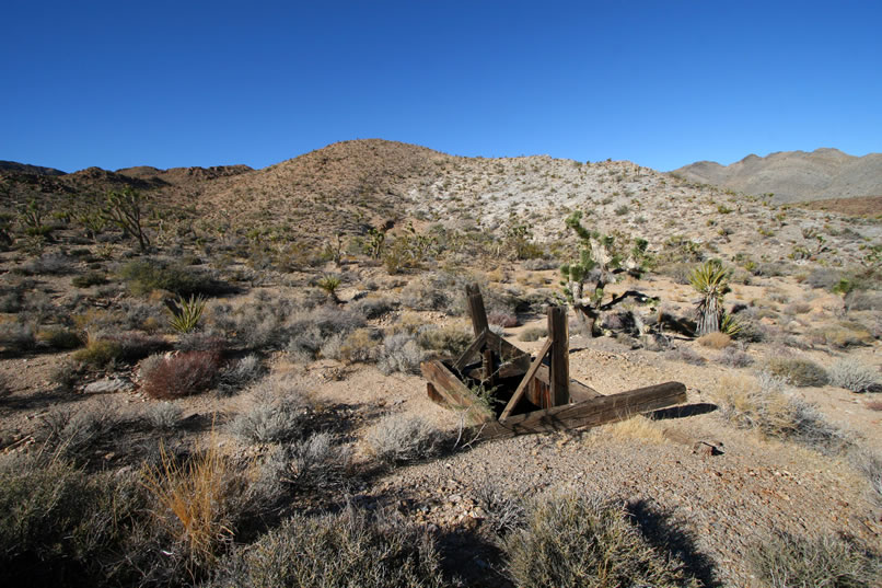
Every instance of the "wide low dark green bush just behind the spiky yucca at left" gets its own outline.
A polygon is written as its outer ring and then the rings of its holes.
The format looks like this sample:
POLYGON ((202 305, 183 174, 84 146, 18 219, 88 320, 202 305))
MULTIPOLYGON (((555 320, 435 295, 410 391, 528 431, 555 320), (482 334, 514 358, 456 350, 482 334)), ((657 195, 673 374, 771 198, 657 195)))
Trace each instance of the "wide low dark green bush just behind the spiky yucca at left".
POLYGON ((119 269, 119 277, 136 296, 153 290, 167 290, 179 297, 216 296, 230 290, 205 272, 158 260, 129 262, 119 269))

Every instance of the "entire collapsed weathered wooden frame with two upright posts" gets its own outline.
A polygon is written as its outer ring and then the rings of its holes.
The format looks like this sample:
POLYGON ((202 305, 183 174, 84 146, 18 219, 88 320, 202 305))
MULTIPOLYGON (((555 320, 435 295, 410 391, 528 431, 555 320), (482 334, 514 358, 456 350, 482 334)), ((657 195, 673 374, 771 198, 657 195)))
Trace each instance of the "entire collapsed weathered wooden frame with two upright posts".
POLYGON ((680 382, 603 395, 570 379, 566 307, 548 309, 548 338, 531 357, 490 331, 477 286, 467 286, 466 296, 472 344, 455 361, 423 361, 420 370, 429 397, 465 411, 483 439, 594 427, 686 402, 680 382), (497 416, 499 401, 506 405, 497 416))

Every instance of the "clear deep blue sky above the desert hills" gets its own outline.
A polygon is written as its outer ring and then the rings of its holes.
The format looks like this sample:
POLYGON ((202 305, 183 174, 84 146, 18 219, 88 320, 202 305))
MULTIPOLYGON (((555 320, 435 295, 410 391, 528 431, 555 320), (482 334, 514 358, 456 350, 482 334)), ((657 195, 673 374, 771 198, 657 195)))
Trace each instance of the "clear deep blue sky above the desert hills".
POLYGON ((882 151, 882 2, 4 0, 0 160, 882 151))

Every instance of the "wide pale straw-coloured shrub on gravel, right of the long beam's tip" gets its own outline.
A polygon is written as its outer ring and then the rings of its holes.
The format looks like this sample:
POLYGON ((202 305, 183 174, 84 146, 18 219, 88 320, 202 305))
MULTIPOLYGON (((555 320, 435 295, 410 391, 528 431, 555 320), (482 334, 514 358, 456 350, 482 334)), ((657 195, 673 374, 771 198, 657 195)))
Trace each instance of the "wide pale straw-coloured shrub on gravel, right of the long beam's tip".
POLYGON ((846 435, 827 423, 814 405, 788 393, 785 381, 768 372, 761 372, 756 379, 723 377, 716 395, 720 414, 738 427, 793 440, 826 454, 849 445, 846 435))

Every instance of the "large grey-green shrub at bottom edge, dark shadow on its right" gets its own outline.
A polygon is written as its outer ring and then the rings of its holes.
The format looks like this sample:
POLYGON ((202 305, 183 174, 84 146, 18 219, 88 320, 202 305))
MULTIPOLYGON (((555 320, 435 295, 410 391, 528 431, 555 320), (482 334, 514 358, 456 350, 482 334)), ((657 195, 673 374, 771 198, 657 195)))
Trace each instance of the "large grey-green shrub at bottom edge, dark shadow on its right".
POLYGON ((558 496, 534 503, 526 527, 502 542, 508 573, 523 588, 696 587, 683 564, 654 549, 620 507, 558 496))

